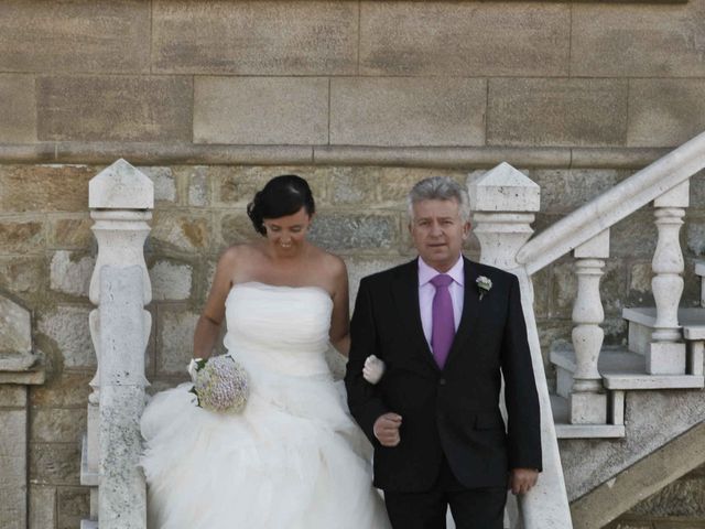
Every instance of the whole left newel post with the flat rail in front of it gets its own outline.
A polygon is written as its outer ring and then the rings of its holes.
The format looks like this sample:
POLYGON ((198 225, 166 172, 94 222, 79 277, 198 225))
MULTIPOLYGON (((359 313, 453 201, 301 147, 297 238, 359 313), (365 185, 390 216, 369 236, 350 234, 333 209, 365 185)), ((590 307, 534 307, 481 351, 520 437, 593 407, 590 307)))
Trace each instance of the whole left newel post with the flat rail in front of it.
POLYGON ((82 484, 90 487, 91 520, 100 518, 104 529, 139 529, 145 527, 147 499, 135 464, 151 330, 151 315, 143 306, 152 299, 143 247, 154 207, 153 183, 118 160, 90 181, 88 203, 98 241, 89 289, 90 301, 98 305, 89 315, 97 370, 88 398, 82 484), (132 279, 122 284, 121 273, 132 279), (120 301, 122 306, 116 309, 120 301), (139 311, 127 310, 135 303, 139 311))

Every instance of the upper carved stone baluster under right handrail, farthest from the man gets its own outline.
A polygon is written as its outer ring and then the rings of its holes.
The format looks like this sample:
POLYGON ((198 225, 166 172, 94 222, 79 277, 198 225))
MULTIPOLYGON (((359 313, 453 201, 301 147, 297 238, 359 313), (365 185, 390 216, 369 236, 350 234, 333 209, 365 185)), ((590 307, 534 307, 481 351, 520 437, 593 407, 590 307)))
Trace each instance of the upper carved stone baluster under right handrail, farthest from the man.
POLYGON ((690 181, 685 181, 653 201, 659 241, 651 261, 657 321, 647 356, 647 370, 652 375, 685 374, 685 343, 679 325, 684 270, 679 231, 688 205, 688 184, 690 181))

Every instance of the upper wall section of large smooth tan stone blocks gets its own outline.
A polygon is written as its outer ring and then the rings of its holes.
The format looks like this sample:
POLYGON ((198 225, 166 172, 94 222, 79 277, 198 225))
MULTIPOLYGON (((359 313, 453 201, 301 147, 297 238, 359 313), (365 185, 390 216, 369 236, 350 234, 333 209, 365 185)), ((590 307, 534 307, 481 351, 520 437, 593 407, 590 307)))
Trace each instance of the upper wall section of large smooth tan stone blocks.
POLYGON ((0 160, 619 161, 705 129, 704 18, 705 0, 7 0, 0 160))

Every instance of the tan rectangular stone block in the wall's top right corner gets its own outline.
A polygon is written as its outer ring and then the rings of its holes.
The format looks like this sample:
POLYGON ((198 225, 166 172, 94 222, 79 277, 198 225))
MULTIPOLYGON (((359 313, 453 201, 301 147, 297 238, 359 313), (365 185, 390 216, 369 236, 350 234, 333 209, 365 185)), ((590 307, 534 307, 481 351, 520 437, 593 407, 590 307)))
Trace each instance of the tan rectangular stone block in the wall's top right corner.
POLYGON ((702 77, 705 3, 573 6, 571 75, 702 77))

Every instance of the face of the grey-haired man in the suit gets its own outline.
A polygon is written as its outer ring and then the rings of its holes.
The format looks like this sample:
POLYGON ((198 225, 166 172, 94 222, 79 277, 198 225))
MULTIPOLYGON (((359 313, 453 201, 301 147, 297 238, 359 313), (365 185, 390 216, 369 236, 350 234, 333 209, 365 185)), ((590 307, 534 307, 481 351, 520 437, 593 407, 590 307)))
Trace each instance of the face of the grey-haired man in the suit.
POLYGON ((426 264, 447 272, 470 233, 470 223, 460 218, 459 204, 455 199, 420 201, 413 204, 412 213, 409 230, 419 255, 426 264))

